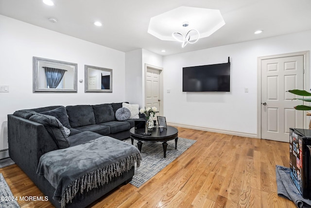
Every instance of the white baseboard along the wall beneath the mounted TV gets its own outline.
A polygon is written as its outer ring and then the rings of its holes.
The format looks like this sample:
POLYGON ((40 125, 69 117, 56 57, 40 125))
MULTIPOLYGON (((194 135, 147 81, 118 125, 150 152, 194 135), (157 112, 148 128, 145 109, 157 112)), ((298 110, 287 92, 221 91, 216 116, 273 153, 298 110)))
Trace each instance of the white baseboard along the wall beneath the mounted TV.
POLYGON ((192 125, 187 125, 187 124, 170 123, 170 122, 168 122, 167 125, 175 126, 175 127, 182 127, 182 128, 187 128, 187 129, 201 130, 205 132, 224 133, 224 134, 230 134, 230 135, 235 135, 235 136, 258 138, 258 135, 256 133, 236 132, 236 131, 230 131, 230 130, 224 130, 224 129, 213 129, 213 128, 207 128, 207 127, 201 127, 201 126, 192 126, 192 125))

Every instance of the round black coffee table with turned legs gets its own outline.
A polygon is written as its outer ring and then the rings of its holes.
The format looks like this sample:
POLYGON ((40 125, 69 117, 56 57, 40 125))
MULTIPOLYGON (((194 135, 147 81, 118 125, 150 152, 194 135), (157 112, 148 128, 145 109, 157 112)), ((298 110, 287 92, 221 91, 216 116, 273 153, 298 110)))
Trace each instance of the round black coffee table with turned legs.
MULTIPOLYGON (((147 131, 146 131, 147 132, 147 131)), ((166 157, 167 141, 175 139, 175 149, 177 149, 178 140, 178 130, 175 127, 167 126, 167 129, 163 129, 160 132, 159 128, 154 128, 152 131, 148 131, 151 135, 142 135, 142 132, 135 130, 135 127, 130 129, 132 145, 134 144, 134 139, 138 141, 138 150, 141 152, 142 142, 163 142, 163 152, 164 157, 166 157)))

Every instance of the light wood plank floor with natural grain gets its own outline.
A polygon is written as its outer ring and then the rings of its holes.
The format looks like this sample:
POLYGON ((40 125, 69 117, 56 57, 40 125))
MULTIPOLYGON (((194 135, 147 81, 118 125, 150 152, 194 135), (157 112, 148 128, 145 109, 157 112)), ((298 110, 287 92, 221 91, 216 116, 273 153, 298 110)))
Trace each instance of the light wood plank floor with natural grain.
MULTIPOLYGON (((93 208, 295 208, 277 196, 276 165, 289 167, 289 144, 178 128, 179 137, 197 140, 139 189, 120 186, 93 208)), ((12 165, 0 169, 13 194, 43 196, 12 165)), ((18 201, 21 208, 52 207, 50 202, 18 201)))

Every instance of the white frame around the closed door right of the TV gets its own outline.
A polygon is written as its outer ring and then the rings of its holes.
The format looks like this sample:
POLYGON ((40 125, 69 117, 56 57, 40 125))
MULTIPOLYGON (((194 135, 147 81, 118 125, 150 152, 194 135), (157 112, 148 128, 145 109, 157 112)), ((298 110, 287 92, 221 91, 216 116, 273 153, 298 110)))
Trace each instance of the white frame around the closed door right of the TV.
MULTIPOLYGON (((282 58, 282 57, 294 57, 294 56, 303 56, 303 81, 304 81, 304 90, 310 91, 310 51, 301 51, 295 53, 288 53, 288 54, 279 54, 279 55, 272 55, 272 56, 265 56, 265 57, 257 57, 257 136, 261 139, 261 61, 265 59, 272 59, 272 58, 282 58)), ((309 103, 310 104, 310 103, 309 103)), ((305 129, 309 128, 309 120, 308 116, 304 113, 303 115, 303 125, 305 129)))

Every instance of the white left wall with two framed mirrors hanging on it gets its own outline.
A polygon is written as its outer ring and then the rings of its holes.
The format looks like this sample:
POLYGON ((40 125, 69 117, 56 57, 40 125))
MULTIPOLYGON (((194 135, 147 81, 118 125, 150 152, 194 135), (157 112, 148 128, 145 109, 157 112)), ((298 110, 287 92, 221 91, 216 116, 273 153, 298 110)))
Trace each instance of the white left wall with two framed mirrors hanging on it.
POLYGON ((49 105, 78 105, 125 100, 125 53, 66 36, 0 15, 0 150, 7 149, 7 114, 49 105), (33 93, 33 57, 78 64, 78 80, 85 79, 84 65, 113 69, 113 93, 33 93))

